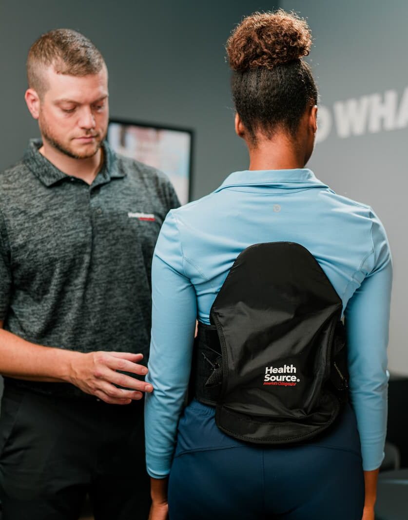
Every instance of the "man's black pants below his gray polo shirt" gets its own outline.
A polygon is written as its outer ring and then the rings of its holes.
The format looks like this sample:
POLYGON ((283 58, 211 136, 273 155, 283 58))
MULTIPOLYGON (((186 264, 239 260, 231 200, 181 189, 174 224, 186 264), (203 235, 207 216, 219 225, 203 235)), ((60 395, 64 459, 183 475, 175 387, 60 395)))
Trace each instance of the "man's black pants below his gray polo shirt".
POLYGON ((145 520, 143 403, 35 394, 6 385, 0 415, 2 520, 145 520))

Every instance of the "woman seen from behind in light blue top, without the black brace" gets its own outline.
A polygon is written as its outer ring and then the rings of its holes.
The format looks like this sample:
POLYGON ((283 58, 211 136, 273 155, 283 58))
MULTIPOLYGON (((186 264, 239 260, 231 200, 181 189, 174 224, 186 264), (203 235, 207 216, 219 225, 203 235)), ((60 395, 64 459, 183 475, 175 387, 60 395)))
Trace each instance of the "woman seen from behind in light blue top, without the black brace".
POLYGON ((248 147, 249 170, 170 211, 157 241, 154 392, 146 399, 152 520, 167 517, 167 486, 171 520, 374 519, 391 258, 371 208, 338 196, 305 169, 317 129, 317 88, 302 59, 310 46, 306 22, 283 10, 255 13, 235 29, 227 51, 235 131, 248 147), (183 410, 195 320, 209 323, 236 257, 265 242, 304 246, 341 298, 346 323, 351 405, 323 434, 292 446, 230 437, 217 428, 215 409, 196 399, 183 410))

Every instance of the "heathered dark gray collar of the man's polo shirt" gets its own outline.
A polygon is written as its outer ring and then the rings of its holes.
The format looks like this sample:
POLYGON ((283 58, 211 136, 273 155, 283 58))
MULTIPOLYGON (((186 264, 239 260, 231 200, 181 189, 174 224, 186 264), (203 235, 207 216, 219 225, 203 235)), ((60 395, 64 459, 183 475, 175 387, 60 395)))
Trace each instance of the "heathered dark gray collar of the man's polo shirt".
MULTIPOLYGON (((45 186, 52 186, 70 176, 58 170, 54 164, 44 157, 38 150, 42 147, 41 139, 30 139, 29 146, 24 153, 23 161, 30 168, 31 172, 45 186)), ((109 182, 111 178, 125 177, 126 173, 120 168, 115 152, 110 148, 106 141, 102 144, 104 151, 104 162, 94 182, 100 180, 109 182)), ((97 184, 99 182, 97 181, 97 184)))

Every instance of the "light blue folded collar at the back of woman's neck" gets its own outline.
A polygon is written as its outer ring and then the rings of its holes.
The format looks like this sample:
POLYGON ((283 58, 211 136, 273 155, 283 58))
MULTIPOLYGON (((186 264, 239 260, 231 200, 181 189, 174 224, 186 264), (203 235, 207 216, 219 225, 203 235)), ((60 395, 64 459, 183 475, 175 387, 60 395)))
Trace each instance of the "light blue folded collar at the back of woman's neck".
POLYGON ((234 172, 223 181, 218 190, 262 185, 286 189, 327 187, 308 168, 296 168, 295 170, 244 170, 234 172))

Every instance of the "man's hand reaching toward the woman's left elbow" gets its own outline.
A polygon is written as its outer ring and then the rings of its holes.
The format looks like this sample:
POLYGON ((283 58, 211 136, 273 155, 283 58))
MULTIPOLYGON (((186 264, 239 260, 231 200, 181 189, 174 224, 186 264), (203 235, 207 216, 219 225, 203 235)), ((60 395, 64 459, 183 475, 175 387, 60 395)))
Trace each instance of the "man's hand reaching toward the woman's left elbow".
POLYGON ((146 375, 148 369, 138 364, 142 354, 102 351, 77 354, 71 359, 66 379, 87 394, 110 404, 128 405, 141 399, 142 392, 153 391, 152 385, 117 372, 146 375), (115 384, 130 389, 117 388, 115 384))

